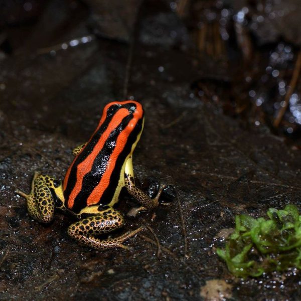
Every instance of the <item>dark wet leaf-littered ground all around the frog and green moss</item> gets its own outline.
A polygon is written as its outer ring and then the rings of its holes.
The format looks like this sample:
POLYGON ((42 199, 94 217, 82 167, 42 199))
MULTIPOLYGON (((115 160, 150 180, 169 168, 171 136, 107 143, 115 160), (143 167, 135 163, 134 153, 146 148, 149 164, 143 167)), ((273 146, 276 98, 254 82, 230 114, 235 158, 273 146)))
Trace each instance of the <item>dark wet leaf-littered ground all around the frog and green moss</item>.
POLYGON ((301 208, 296 2, 2 5, 0 299, 298 299, 298 271, 238 279, 215 254, 235 214, 301 208), (145 109, 137 181, 176 198, 126 217, 123 231, 145 225, 131 251, 99 252, 67 236, 67 216, 34 221, 14 191, 35 171, 63 179, 122 99, 145 109))

